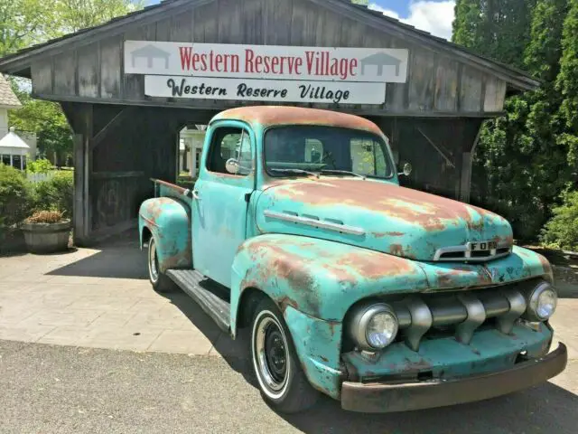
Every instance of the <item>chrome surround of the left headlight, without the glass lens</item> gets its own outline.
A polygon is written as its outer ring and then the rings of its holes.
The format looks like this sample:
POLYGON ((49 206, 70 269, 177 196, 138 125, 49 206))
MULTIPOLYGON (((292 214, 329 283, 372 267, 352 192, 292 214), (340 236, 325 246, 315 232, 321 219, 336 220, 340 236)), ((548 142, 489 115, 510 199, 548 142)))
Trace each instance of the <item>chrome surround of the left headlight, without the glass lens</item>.
POLYGON ((396 340, 397 332, 399 331, 399 321, 397 320, 396 312, 393 307, 386 303, 368 303, 353 308, 351 315, 349 332, 359 350, 362 351, 379 351, 387 348, 396 340), (372 345, 368 339, 368 325, 371 320, 377 316, 386 314, 394 319, 395 329, 391 337, 387 339, 387 343, 381 346, 372 345))

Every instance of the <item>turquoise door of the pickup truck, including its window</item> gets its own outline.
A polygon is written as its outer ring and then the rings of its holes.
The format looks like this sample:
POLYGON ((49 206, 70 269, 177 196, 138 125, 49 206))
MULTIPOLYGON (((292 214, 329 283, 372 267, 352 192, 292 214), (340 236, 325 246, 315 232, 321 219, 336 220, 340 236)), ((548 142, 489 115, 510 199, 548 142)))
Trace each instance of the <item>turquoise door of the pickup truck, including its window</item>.
POLYGON ((230 288, 231 266, 247 233, 247 206, 255 190, 255 136, 244 123, 212 124, 193 193, 193 266, 230 288), (237 161, 231 172, 227 162, 237 161))

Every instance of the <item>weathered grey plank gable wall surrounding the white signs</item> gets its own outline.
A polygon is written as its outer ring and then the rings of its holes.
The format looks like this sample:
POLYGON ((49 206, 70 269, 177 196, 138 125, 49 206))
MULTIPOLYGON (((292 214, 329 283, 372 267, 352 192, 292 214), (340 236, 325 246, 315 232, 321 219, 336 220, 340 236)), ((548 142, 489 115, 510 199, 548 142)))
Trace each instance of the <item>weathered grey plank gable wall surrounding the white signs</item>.
POLYGON ((484 71, 382 33, 309 0, 214 0, 125 33, 89 42, 32 66, 42 98, 163 107, 224 109, 238 101, 151 99, 144 76, 124 75, 125 40, 406 48, 406 83, 388 83, 381 106, 330 106, 376 116, 490 116, 502 110, 506 83, 484 71))

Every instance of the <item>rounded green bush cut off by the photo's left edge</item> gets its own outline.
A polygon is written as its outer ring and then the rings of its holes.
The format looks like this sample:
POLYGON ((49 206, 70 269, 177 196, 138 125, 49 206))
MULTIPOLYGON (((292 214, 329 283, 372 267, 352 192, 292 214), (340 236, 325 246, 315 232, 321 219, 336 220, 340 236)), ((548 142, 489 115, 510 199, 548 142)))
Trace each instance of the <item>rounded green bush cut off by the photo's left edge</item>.
POLYGON ((0 238, 5 229, 23 221, 30 211, 30 196, 22 172, 0 164, 0 238))

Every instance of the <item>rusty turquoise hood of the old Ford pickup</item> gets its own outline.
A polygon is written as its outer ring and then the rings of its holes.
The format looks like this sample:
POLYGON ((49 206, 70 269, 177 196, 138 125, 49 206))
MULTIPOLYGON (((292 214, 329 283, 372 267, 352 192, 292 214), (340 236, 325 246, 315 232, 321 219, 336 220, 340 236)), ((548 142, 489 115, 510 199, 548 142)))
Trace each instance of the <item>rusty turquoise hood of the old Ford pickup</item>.
POLYGON ((468 242, 512 243, 499 215, 466 203, 371 180, 322 177, 273 184, 256 204, 262 233, 287 233, 433 260, 468 242))

